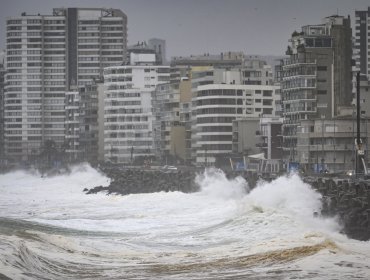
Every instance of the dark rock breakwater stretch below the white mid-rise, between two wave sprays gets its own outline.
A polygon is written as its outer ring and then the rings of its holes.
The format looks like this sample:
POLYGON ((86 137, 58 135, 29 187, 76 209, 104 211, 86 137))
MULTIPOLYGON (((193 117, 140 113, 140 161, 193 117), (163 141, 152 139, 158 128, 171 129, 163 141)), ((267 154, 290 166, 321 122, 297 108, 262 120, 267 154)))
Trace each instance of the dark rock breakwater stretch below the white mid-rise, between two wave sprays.
POLYGON ((86 194, 105 192, 107 194, 136 194, 181 191, 184 193, 195 192, 199 187, 195 184, 196 173, 192 171, 162 171, 142 169, 103 169, 111 179, 107 187, 97 186, 84 189, 86 194))

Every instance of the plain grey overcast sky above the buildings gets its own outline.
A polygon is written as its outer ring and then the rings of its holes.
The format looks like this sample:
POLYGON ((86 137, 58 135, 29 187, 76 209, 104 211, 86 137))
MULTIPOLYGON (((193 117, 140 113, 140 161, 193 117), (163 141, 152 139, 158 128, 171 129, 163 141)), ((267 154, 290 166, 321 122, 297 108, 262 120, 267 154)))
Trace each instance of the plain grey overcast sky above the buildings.
POLYGON ((282 55, 290 34, 301 26, 337 13, 353 19, 355 10, 368 6, 369 0, 0 0, 0 48, 5 48, 9 16, 105 7, 126 13, 129 44, 165 39, 168 58, 228 50, 282 55))

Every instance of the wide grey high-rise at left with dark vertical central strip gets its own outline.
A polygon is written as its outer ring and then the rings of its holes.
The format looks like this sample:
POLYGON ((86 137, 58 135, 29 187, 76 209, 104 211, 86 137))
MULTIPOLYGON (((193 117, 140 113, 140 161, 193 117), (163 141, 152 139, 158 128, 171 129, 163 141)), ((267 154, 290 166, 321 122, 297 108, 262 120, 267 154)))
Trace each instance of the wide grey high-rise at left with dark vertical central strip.
POLYGON ((103 68, 126 60, 127 17, 116 9, 61 8, 7 19, 5 154, 39 154, 46 140, 65 142, 65 101, 103 68))

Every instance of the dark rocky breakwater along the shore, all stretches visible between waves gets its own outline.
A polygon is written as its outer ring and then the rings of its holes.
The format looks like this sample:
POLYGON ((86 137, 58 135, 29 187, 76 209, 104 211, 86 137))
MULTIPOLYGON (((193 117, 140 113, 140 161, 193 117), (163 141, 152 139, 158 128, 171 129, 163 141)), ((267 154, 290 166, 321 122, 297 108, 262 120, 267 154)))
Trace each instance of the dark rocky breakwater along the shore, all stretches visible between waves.
MULTIPOLYGON (((180 191, 192 193, 199 191, 195 177, 203 170, 187 169, 166 171, 160 169, 120 169, 100 168, 111 183, 107 187, 85 188, 86 194, 106 192, 107 195, 128 195, 137 193, 180 191)), ((258 180, 271 181, 274 178, 259 177, 247 172, 224 171, 228 179, 243 177, 250 189, 258 180)), ((370 240, 370 181, 339 177, 301 177, 315 191, 322 195, 321 213, 323 217, 339 217, 343 233, 349 238, 370 240)))

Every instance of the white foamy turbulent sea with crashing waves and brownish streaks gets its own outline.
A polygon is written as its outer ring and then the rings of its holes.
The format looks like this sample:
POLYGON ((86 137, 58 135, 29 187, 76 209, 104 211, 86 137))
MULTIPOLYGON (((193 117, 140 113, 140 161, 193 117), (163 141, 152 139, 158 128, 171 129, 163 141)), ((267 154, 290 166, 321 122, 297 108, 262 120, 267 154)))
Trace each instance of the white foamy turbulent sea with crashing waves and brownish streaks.
POLYGON ((217 170, 200 191, 127 196, 88 165, 0 175, 0 279, 370 279, 370 242, 348 239, 298 176, 249 190, 217 170))

